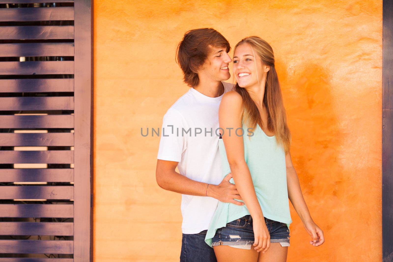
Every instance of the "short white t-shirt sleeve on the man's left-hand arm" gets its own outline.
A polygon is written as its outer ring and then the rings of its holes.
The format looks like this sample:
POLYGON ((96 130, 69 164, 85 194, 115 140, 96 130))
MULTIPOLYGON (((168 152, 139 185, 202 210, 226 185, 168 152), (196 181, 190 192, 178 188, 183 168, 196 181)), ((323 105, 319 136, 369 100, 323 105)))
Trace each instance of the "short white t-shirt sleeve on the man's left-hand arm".
POLYGON ((185 128, 182 114, 176 109, 169 108, 162 121, 157 159, 180 162, 186 148, 184 136, 181 135, 182 128, 185 128))

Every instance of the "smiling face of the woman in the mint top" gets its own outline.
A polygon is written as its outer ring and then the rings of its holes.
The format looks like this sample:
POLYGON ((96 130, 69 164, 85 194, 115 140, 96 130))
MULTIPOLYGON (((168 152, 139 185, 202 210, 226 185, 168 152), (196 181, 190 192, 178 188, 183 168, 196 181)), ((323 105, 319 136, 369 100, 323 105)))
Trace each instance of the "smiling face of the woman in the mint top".
POLYGON ((237 46, 233 53, 233 75, 240 87, 246 88, 258 85, 266 77, 261 58, 254 53, 250 44, 237 46), (256 66, 256 67, 255 67, 256 66))

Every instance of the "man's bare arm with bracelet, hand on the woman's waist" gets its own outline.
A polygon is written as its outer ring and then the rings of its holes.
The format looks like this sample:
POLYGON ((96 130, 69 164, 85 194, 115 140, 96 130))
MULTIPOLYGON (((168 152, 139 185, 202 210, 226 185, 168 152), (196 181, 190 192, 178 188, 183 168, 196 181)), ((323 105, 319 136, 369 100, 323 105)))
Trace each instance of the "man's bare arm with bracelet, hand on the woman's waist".
POLYGON ((157 159, 156 180, 158 185, 166 190, 192 196, 211 196, 221 202, 244 205, 237 192, 236 186, 229 182, 231 173, 225 176, 219 185, 198 182, 175 171, 178 162, 157 159), (209 186, 208 186, 209 185, 209 186))

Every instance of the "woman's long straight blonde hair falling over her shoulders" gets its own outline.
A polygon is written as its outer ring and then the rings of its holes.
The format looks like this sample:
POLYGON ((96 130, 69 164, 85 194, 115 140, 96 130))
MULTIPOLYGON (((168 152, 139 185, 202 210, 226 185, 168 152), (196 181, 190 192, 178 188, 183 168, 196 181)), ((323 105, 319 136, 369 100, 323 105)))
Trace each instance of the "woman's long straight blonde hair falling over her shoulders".
POLYGON ((255 130, 258 124, 262 129, 266 127, 270 132, 274 132, 277 144, 283 145, 286 154, 290 149, 291 134, 286 123, 286 111, 277 72, 274 67, 273 49, 268 42, 256 36, 242 39, 236 44, 235 49, 241 44, 250 44, 255 55, 261 58, 262 63, 270 66, 270 70, 266 77, 266 86, 263 96, 263 104, 268 112, 267 123, 262 122, 257 105, 251 99, 247 90, 241 88, 237 83, 235 85, 235 91, 239 93, 243 99, 242 122, 253 130, 255 130))

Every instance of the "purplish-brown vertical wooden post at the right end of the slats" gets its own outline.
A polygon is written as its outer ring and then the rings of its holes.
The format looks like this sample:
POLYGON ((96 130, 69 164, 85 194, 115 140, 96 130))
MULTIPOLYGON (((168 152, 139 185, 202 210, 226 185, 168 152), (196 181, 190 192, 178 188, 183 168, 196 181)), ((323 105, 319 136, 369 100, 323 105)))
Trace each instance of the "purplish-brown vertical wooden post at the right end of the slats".
POLYGON ((74 261, 93 261, 92 230, 92 114, 93 114, 93 4, 74 3, 75 10, 75 168, 74 261))

